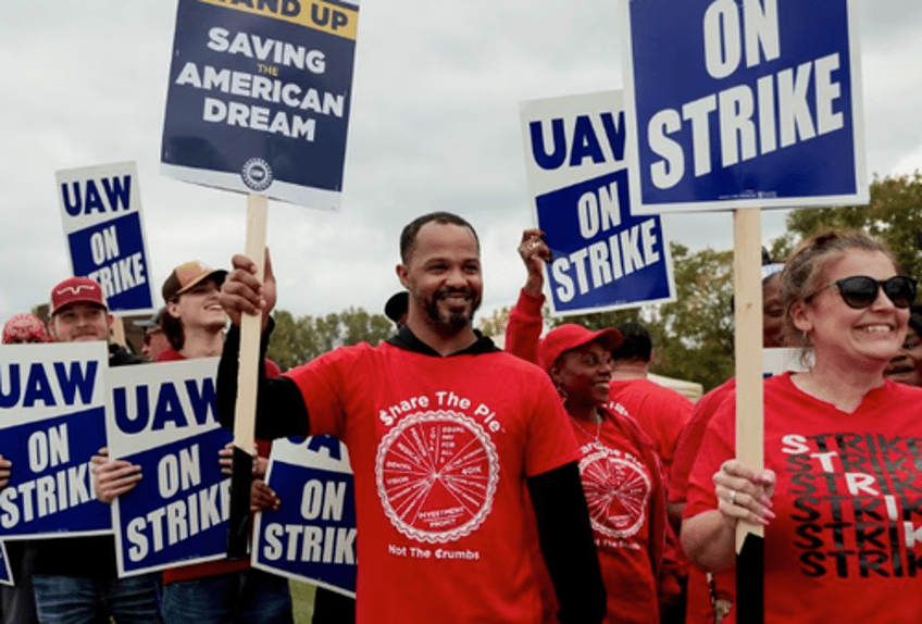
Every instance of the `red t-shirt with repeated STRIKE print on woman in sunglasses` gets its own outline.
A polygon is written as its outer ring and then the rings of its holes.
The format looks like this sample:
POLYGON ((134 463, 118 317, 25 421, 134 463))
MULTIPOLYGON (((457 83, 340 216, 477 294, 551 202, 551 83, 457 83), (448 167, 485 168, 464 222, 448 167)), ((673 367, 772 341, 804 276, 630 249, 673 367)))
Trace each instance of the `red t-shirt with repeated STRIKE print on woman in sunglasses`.
MULTIPOLYGON (((711 475, 734 457, 734 401, 711 420, 685 515, 717 508, 711 475)), ((922 621, 922 389, 885 380, 854 413, 764 384, 765 622, 922 621)))

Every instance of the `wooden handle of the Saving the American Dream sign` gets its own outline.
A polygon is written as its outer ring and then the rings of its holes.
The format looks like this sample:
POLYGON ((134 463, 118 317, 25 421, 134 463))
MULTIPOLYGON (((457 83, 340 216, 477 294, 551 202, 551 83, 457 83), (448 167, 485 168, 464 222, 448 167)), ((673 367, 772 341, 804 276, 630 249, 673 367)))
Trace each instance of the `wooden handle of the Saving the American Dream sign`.
MULTIPOLYGON (((257 276, 265 276, 265 196, 247 196, 246 254, 257 264, 257 276)), ((257 384, 260 364, 262 314, 240 317, 240 359, 237 402, 234 407, 234 467, 230 475, 230 527, 227 557, 244 559, 250 552, 250 487, 256 444, 257 384)))

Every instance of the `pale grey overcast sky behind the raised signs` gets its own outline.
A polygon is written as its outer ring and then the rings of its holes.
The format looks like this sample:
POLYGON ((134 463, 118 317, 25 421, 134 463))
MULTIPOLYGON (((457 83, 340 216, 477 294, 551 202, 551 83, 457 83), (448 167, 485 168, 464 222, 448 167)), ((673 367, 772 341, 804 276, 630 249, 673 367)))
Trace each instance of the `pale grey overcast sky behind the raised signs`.
MULTIPOLYGON (((858 2, 869 175, 922 169, 922 3, 858 2)), ((70 263, 58 170, 135 161, 154 292, 191 259, 242 250, 246 199, 160 174, 176 2, 4 0, 0 20, 0 322, 45 302, 70 263)), ((514 302, 534 223, 519 103, 620 89, 615 0, 365 0, 339 213, 270 202, 278 308, 379 312, 399 288, 401 227, 449 210, 478 229, 483 312, 514 302)), ((783 230, 767 212, 763 238, 783 230)), ((728 213, 664 220, 671 238, 731 249, 728 213)), ((160 303, 160 301, 158 301, 160 303)))

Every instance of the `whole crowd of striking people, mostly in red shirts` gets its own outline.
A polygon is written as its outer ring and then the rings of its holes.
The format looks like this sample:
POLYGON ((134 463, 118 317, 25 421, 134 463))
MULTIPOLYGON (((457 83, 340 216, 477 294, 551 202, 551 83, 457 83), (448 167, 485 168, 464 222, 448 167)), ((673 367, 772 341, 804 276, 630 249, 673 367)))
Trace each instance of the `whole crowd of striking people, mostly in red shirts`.
MULTIPOLYGON (((764 527, 765 622, 922 619, 922 307, 879 241, 821 232, 763 267, 763 345, 803 360, 764 380, 761 471, 735 459, 733 379, 693 404, 647 378, 643 324, 546 327, 539 230, 519 245, 504 349, 474 328, 470 223, 423 215, 399 250, 391 338, 260 366, 254 504, 278 506, 263 482, 278 437, 335 435, 354 473, 357 599, 319 588, 316 624, 727 624, 739 522, 764 527)), ((233 428, 241 315, 262 315, 263 350, 274 327, 271 259, 261 280, 244 255, 230 271, 183 263, 162 297, 141 354, 110 344, 109 364, 220 358, 233 428)), ((100 285, 71 277, 47 324, 17 314, 2 340, 110 341, 112 324, 100 285)), ((91 461, 103 502, 144 478, 107 449, 91 461)), ((14 471, 0 458, 0 488, 14 471)), ((120 577, 112 536, 5 549, 4 624, 294 622, 287 579, 248 561, 120 577)))

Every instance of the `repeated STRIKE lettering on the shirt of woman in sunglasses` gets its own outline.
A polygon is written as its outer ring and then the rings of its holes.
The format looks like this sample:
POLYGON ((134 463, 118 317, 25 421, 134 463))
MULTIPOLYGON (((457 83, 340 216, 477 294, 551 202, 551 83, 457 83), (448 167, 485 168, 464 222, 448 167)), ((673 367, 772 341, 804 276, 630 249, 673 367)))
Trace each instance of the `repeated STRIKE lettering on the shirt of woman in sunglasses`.
POLYGON ((808 576, 913 577, 922 571, 922 440, 788 434, 795 547, 808 576))

